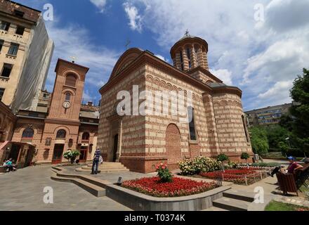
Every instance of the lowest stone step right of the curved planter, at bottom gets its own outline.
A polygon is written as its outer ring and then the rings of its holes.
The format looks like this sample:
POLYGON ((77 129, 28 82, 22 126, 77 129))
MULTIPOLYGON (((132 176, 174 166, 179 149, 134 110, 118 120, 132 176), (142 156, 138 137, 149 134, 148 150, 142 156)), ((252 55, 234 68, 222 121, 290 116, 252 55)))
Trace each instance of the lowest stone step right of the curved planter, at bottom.
POLYGON ((219 207, 229 211, 248 211, 248 202, 237 200, 234 198, 219 198, 213 201, 214 207, 219 207))

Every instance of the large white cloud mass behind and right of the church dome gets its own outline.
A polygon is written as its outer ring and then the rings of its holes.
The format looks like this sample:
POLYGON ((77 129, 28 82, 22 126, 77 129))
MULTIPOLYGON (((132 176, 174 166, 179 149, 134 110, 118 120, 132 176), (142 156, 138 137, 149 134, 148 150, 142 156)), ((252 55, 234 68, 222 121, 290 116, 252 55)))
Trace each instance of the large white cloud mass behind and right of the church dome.
POLYGON ((153 32, 165 51, 187 28, 205 39, 213 73, 243 90, 245 108, 290 101, 289 88, 279 86, 291 86, 308 67, 309 0, 127 1, 138 8, 143 29, 153 32), (264 23, 254 20, 256 4, 264 6, 264 23), (258 97, 265 93, 272 93, 272 102, 258 97))

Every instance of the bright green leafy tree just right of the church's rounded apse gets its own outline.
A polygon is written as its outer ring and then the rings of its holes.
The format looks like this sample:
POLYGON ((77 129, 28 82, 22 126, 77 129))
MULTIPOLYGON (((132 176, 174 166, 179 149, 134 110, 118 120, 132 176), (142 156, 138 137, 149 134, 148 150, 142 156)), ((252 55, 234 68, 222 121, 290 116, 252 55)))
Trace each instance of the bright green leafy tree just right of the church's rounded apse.
POLYGON ((251 127, 251 146, 254 150, 254 153, 258 155, 263 155, 268 153, 269 145, 267 132, 263 127, 251 127))

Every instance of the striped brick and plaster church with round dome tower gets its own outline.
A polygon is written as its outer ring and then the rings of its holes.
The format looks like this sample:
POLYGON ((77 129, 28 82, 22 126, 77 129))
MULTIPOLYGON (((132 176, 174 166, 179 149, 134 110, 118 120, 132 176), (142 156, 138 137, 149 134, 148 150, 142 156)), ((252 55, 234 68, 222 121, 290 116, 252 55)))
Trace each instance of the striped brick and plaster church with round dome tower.
MULTIPOLYGON (((154 172, 155 165, 196 156, 225 153, 240 161, 252 155, 242 91, 224 84, 209 72, 204 39, 186 34, 171 48, 173 65, 150 51, 129 49, 118 60, 102 95, 98 146, 107 161, 121 162, 134 172, 154 172), (119 115, 117 94, 129 91, 184 91, 192 93, 192 120, 175 115, 119 115)), ((170 106, 168 106, 170 107, 170 106)))

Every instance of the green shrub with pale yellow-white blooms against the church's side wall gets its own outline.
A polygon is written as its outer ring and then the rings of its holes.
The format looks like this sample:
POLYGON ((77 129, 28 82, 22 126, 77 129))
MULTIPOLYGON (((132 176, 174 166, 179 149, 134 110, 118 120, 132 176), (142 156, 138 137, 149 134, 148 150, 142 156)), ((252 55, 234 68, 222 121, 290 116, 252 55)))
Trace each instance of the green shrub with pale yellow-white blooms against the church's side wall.
POLYGON ((194 175, 200 172, 213 172, 221 169, 221 163, 212 158, 197 157, 179 162, 179 169, 181 170, 181 174, 194 175))

